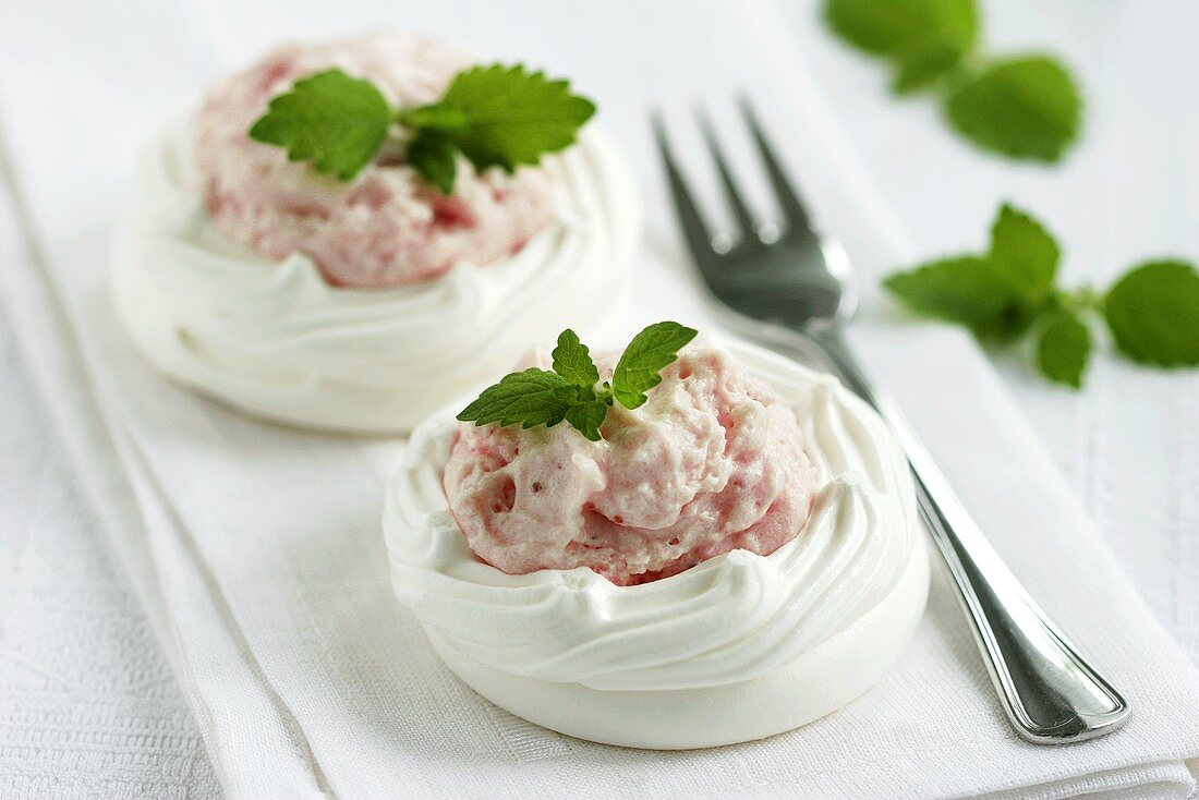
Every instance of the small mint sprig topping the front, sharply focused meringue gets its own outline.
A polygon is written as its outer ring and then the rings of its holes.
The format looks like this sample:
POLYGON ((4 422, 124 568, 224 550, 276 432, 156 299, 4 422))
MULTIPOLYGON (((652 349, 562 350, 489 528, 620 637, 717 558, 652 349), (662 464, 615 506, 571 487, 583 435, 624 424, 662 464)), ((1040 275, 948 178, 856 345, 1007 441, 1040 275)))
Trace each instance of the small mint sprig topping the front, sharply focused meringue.
POLYGON ((600 441, 613 401, 629 410, 640 407, 645 392, 662 383, 661 371, 674 363, 695 333, 679 323, 650 325, 625 348, 611 383, 601 386, 590 350, 567 329, 558 337, 553 372, 531 368, 507 374, 484 389, 457 419, 476 426, 496 422, 522 428, 554 427, 566 420, 591 441, 600 441))

